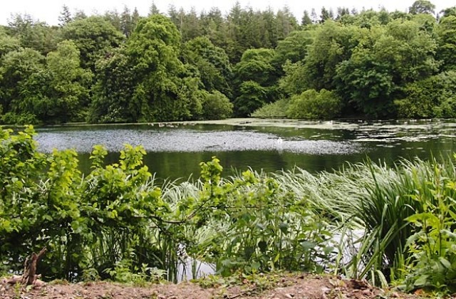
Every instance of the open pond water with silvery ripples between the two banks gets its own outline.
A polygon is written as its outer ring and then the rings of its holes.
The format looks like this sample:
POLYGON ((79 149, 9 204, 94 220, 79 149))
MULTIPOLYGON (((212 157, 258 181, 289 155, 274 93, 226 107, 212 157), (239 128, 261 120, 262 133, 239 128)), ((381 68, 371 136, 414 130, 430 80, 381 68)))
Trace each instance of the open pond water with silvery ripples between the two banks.
POLYGON ((252 167, 274 172, 301 167, 309 172, 339 169, 344 162, 427 159, 456 151, 455 120, 309 122, 232 119, 141 125, 65 125, 36 128, 39 150, 73 148, 83 172, 90 150, 105 145, 107 162, 118 161, 123 145, 142 145, 145 164, 165 179, 199 177, 199 162, 217 156, 225 174, 252 167))

